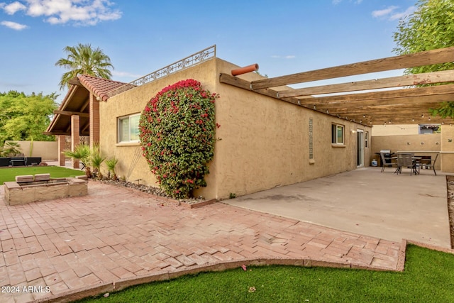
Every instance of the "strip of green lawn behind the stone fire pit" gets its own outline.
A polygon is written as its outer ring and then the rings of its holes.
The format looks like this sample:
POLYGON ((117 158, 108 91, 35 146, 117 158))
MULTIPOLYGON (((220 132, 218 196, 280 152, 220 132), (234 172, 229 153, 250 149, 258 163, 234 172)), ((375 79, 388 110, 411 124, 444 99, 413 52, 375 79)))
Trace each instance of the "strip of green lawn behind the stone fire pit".
POLYGON ((14 181, 16 180, 16 176, 46 173, 50 173, 51 178, 85 175, 85 172, 82 170, 71 170, 70 168, 58 166, 10 167, 0 169, 0 184, 3 184, 3 182, 14 181))

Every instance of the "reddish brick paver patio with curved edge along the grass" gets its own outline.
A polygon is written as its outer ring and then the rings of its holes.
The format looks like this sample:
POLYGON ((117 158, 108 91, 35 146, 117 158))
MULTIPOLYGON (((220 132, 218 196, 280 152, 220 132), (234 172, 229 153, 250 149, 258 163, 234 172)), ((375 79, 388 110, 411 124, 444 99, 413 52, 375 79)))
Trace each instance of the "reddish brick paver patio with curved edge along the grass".
POLYGON ((0 241, 0 302, 251 258, 396 270, 401 246, 222 203, 187 209, 99 182, 85 197, 17 206, 1 187, 0 241))

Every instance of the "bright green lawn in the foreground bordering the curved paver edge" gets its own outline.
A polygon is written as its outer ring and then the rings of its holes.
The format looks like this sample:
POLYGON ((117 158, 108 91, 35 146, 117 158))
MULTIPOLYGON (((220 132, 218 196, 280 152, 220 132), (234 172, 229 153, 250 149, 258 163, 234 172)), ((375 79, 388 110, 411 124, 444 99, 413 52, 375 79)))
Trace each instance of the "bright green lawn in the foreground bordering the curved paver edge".
POLYGON ((410 245, 404 272, 238 268, 138 285, 80 302, 454 302, 454 255, 410 245))

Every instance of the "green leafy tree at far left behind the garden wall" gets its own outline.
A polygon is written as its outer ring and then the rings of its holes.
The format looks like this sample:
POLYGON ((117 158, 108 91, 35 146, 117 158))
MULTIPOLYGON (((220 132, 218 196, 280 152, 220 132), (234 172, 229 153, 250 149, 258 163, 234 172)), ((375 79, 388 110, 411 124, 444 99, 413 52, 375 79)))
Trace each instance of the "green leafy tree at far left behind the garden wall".
POLYGON ((57 109, 57 97, 55 93, 0 93, 0 144, 6 140, 54 141, 54 136, 43 132, 57 109))

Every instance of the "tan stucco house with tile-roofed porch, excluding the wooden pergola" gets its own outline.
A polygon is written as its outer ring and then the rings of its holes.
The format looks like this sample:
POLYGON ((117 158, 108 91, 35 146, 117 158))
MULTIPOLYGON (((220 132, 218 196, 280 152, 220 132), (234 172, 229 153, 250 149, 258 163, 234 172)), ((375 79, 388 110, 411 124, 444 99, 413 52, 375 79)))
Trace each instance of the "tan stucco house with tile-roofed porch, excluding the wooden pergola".
MULTIPOLYGON (((219 75, 237 68, 209 57, 141 85, 80 75, 70 84, 47 133, 58 136, 61 149, 66 136, 71 136, 72 145, 79 136, 89 136, 91 143, 99 141, 101 153, 118 158, 117 175, 157 186, 138 142, 138 118, 162 88, 196 79, 219 94, 216 122, 221 125, 207 187, 198 189, 197 196, 226 199, 231 193, 258 192, 368 165, 369 126, 219 81, 219 75)), ((254 72, 238 78, 263 79, 254 72)))

